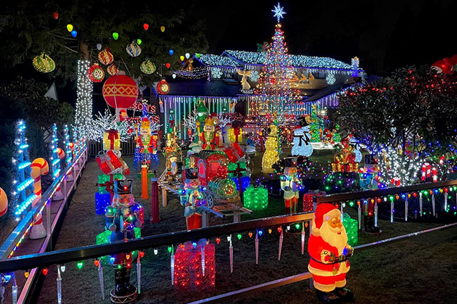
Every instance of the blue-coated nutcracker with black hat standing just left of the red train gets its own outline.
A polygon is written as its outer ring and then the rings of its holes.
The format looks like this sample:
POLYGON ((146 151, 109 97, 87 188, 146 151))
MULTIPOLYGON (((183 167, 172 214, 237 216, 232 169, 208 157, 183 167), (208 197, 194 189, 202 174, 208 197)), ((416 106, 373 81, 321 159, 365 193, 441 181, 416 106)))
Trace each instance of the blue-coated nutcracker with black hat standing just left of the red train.
POLYGON ((185 207, 187 229, 201 228, 201 206, 206 205, 203 187, 201 187, 197 169, 186 169, 184 189, 181 191, 181 205, 185 207))

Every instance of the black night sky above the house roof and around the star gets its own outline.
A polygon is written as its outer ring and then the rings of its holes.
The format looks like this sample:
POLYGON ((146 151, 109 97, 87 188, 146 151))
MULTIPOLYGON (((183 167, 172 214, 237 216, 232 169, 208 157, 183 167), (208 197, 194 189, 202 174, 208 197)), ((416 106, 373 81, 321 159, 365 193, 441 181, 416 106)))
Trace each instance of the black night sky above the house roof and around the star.
MULTIPOLYGON (((198 1, 207 20, 210 53, 256 50, 269 41, 278 1, 198 1)), ((369 74, 432 64, 457 54, 457 1, 281 1, 289 53, 360 58, 369 74)))

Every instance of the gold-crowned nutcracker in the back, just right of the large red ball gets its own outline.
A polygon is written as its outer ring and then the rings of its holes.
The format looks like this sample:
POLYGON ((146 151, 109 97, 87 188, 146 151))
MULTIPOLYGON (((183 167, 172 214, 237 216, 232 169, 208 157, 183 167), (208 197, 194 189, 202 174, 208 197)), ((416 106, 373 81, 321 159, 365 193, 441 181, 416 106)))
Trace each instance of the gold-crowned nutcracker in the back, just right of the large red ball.
POLYGON ((151 122, 147 117, 143 117, 141 121, 139 135, 135 137, 138 157, 136 162, 141 164, 146 161, 148 171, 156 168, 159 165, 159 157, 157 156, 157 135, 152 134, 151 122))

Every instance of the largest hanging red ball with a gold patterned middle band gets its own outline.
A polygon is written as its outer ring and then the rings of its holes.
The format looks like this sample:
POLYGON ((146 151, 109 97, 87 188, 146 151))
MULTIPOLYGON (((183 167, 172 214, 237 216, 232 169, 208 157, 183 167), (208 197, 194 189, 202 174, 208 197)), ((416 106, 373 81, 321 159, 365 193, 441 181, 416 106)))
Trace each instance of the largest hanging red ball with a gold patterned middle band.
POLYGON ((138 86, 126 75, 113 75, 103 84, 103 98, 113 108, 128 108, 136 102, 138 86))

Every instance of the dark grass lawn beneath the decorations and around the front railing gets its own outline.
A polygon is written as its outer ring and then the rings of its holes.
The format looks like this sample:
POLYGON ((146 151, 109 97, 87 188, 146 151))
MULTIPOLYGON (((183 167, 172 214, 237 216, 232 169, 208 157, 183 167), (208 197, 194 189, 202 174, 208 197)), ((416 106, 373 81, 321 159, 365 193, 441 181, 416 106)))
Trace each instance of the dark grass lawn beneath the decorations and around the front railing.
MULTIPOLYGON (((132 164, 132 158, 126 158, 132 164)), ((256 170, 260 157, 254 160, 256 170)), ((161 158, 161 168, 163 159, 161 158)), ((160 171, 160 170, 159 170, 160 171)), ((84 171, 83 179, 76 191, 71 207, 66 215, 55 249, 93 245, 96 235, 103 231, 105 220, 95 215, 94 193, 100 170, 95 161, 90 160, 84 171)), ((256 174, 256 171, 254 171, 256 174)), ((136 176, 136 175, 134 175, 136 176)), ((135 178, 134 195, 145 206, 145 227, 143 236, 180 231, 186 228, 183 208, 176 196, 168 197, 168 206, 160 206, 161 222, 151 225, 150 200, 139 199, 141 182, 135 178)), ((284 213, 283 200, 269 198, 267 211, 257 211, 242 220, 262 218, 284 213)), ((301 205, 299 204, 299 211, 301 205)), ((357 211, 345 209, 352 218, 357 211)), ((210 217, 210 225, 231 222, 229 219, 210 217)), ((379 238, 366 236, 359 232, 359 244, 373 242, 382 238, 399 236, 413 231, 435 227, 438 223, 386 222, 379 220, 383 234, 379 238)), ((279 234, 272 227, 271 234, 264 231, 260 237, 259 264, 255 263, 254 237, 248 232, 241 240, 233 238, 233 274, 230 273, 228 242, 226 236, 215 245, 216 283, 215 292, 204 294, 181 294, 174 292, 170 278, 170 254, 166 247, 160 247, 155 256, 152 249, 145 251, 142 260, 142 292, 136 303, 187 303, 200 298, 222 294, 236 289, 265 283, 307 272, 307 252, 301 255, 300 235, 285 234, 283 253, 278 260, 279 234)), ((255 232, 255 231, 254 231, 255 232)), ((307 231, 307 236, 309 236, 307 231)), ((215 239, 210 240, 215 243, 215 239)), ((350 260, 348 287, 355 292, 357 303, 456 303, 457 296, 457 227, 431 232, 389 245, 355 253, 350 260)), ((105 295, 114 287, 114 273, 111 267, 104 268, 105 295)), ((56 270, 50 267, 44 280, 42 292, 37 303, 55 303, 56 270)), ((136 284, 136 270, 132 267, 132 283, 136 284)), ((75 263, 66 265, 62 275, 63 303, 109 303, 101 301, 97 268, 92 260, 85 261, 78 270, 75 263)), ((285 287, 271 289, 233 303, 318 303, 314 292, 308 289, 307 281, 285 287)))

